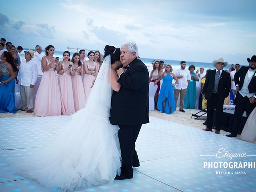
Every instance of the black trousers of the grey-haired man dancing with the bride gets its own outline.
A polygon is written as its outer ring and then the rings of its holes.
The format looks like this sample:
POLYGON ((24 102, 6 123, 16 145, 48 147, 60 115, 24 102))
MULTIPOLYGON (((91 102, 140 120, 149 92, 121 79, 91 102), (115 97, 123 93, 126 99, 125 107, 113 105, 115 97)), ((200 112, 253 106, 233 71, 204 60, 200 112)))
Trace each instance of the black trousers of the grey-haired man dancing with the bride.
POLYGON ((138 138, 140 128, 139 126, 119 126, 118 137, 122 153, 122 167, 121 176, 133 176, 133 164, 138 164, 139 159, 135 150, 135 142, 138 138))

